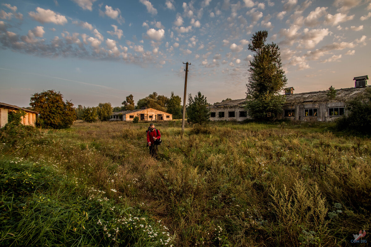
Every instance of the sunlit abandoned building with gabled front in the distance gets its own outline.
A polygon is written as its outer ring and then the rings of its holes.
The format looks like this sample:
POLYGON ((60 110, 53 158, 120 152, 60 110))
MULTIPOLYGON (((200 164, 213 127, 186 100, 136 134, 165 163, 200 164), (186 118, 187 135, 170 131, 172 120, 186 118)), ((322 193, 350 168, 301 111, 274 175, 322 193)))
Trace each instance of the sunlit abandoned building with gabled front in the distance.
POLYGON ((139 121, 173 120, 173 115, 170 113, 143 107, 142 109, 137 110, 114 112, 109 121, 133 121, 136 116, 139 118, 139 121))

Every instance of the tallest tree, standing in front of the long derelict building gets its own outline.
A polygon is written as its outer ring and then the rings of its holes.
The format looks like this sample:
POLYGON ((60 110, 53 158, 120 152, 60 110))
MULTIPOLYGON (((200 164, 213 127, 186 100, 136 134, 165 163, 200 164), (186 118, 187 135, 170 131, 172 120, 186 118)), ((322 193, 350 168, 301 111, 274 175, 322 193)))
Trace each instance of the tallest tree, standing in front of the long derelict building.
POLYGON ((267 31, 253 34, 249 50, 255 52, 250 61, 250 77, 246 84, 246 110, 255 119, 272 119, 282 112, 285 96, 280 95, 287 83, 281 54, 275 43, 265 44, 267 31))

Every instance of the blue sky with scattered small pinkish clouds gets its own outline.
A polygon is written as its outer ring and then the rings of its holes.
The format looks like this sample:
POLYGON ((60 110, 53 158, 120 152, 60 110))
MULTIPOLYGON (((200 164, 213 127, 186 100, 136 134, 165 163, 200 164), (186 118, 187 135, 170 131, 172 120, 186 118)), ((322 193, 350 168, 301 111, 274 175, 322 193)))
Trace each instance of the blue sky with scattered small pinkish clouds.
POLYGON ((183 102, 186 62, 187 95, 243 99, 260 30, 294 93, 354 87, 371 74, 370 24, 371 0, 0 0, 0 102, 47 90, 76 107, 183 102))

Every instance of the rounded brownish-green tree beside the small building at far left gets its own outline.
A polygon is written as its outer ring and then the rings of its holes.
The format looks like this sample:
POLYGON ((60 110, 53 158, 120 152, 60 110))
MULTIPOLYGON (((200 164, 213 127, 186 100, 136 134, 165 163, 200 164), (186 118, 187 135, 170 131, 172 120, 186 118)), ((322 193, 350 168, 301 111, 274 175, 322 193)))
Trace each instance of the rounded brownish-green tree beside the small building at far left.
POLYGON ((73 104, 68 100, 64 102, 63 95, 54 90, 35 93, 30 106, 40 113, 37 124, 42 128, 68 128, 76 120, 73 104))

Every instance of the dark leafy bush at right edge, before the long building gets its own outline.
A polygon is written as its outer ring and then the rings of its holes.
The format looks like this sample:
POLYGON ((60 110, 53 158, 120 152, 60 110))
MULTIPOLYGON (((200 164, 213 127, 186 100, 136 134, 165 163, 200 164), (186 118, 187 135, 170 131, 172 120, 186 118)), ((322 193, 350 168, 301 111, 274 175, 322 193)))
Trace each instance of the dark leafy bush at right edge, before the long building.
POLYGON ((364 94, 346 102, 346 114, 336 121, 339 130, 371 135, 371 87, 364 94))

